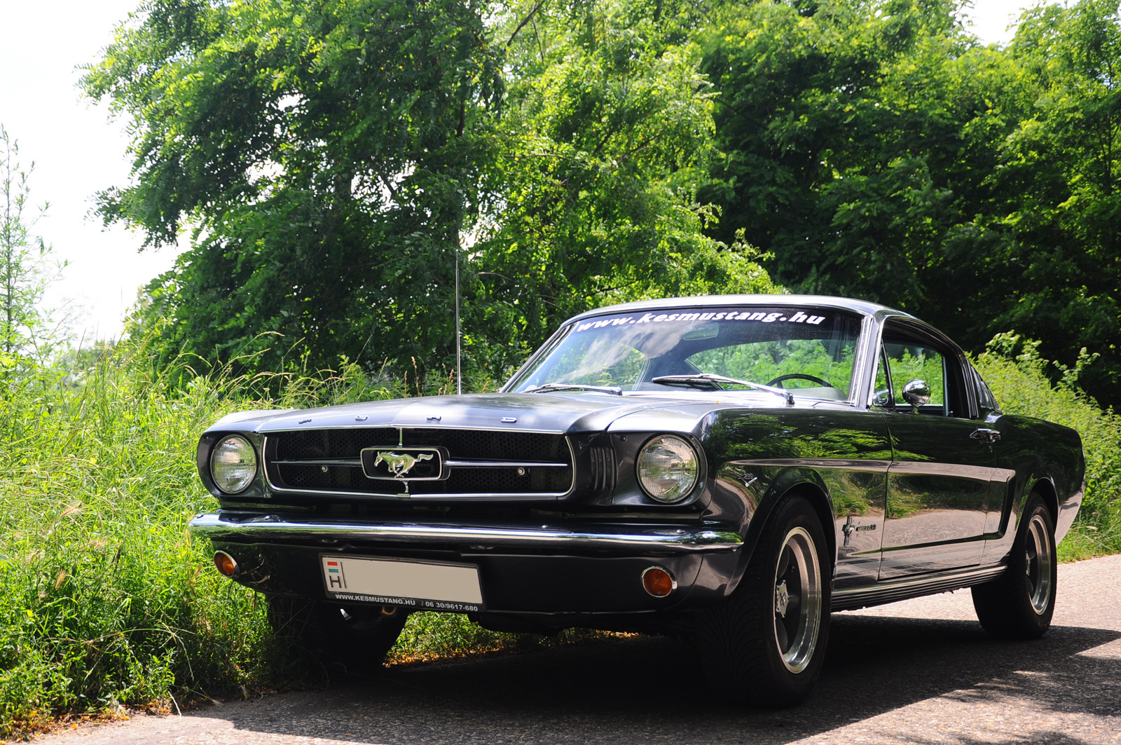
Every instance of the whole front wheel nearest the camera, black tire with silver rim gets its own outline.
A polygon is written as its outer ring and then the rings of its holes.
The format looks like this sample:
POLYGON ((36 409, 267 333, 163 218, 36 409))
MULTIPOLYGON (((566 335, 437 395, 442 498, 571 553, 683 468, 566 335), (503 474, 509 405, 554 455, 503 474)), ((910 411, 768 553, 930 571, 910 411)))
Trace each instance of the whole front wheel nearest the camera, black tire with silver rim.
POLYGON ((697 617, 697 652, 719 698, 782 708, 809 695, 828 644, 830 565, 809 502, 785 500, 739 587, 697 617))

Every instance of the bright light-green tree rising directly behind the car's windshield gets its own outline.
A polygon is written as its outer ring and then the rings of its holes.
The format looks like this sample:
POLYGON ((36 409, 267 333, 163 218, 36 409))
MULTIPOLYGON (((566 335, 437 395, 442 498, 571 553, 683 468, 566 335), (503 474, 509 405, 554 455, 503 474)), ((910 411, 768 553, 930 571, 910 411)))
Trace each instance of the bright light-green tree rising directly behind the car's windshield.
POLYGON ((515 338, 611 302, 776 291, 754 249, 703 232, 713 102, 696 20, 684 2, 621 0, 498 17, 508 95, 473 268, 515 338))

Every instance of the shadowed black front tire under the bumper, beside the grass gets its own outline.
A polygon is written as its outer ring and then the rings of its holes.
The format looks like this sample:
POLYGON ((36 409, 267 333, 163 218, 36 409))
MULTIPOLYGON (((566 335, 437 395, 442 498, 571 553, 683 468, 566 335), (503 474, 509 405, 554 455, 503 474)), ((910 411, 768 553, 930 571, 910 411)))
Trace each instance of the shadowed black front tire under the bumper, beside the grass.
POLYGON ((322 663, 361 673, 379 666, 408 613, 396 606, 339 606, 306 598, 268 599, 272 631, 322 663))

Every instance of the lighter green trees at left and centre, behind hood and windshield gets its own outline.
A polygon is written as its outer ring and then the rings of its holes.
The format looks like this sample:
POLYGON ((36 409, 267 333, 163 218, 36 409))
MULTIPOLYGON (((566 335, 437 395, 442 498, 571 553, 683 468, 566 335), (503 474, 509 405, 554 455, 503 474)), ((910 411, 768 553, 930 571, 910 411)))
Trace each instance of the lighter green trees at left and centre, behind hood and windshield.
POLYGON ((84 85, 136 132, 102 215, 152 246, 192 230, 136 319, 165 358, 446 369, 456 252, 489 375, 589 306, 773 288, 753 249, 703 234, 712 102, 687 6, 142 10, 84 85))

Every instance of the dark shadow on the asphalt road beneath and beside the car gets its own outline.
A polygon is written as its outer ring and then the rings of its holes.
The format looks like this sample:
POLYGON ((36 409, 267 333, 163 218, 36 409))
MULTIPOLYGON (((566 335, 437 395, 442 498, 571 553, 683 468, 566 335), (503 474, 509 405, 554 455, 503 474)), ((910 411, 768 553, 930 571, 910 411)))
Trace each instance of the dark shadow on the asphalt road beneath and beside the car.
POLYGON ((975 622, 836 614, 817 688, 785 711, 713 705, 687 647, 639 638, 389 668, 359 684, 270 697, 284 699, 280 707, 196 716, 229 719, 241 730, 393 745, 785 743, 939 696, 1008 697, 1039 710, 1115 717, 1121 660, 1078 653, 1119 637, 1060 626, 1036 642, 1009 643, 975 622))

